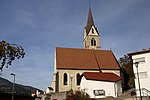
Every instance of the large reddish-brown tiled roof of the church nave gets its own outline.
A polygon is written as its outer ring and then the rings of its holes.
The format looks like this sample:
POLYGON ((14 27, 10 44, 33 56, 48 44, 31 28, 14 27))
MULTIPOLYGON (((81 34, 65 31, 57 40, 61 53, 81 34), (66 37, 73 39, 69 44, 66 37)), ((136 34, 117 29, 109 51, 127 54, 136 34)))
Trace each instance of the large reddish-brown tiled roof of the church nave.
POLYGON ((120 66, 111 50, 56 48, 57 69, 119 70, 120 66))

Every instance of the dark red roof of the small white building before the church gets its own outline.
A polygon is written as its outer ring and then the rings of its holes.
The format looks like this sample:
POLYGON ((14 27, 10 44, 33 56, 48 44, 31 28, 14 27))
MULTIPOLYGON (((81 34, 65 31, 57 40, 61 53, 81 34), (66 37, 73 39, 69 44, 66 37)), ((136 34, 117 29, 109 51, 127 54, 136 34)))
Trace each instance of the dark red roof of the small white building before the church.
POLYGON ((83 76, 87 80, 96 80, 96 81, 108 81, 108 82, 117 82, 121 80, 121 77, 114 73, 102 73, 102 72, 84 72, 83 76))

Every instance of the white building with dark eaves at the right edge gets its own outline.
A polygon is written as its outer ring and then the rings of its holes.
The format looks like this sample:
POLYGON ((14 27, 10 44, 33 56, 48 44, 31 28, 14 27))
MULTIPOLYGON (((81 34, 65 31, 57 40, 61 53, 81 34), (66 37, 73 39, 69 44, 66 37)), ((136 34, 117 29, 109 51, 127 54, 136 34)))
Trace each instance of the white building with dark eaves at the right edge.
POLYGON ((150 95, 150 49, 132 52, 128 54, 133 60, 133 71, 135 74, 135 88, 137 96, 139 96, 139 84, 137 78, 137 67, 135 62, 138 62, 138 73, 140 80, 141 95, 150 95))

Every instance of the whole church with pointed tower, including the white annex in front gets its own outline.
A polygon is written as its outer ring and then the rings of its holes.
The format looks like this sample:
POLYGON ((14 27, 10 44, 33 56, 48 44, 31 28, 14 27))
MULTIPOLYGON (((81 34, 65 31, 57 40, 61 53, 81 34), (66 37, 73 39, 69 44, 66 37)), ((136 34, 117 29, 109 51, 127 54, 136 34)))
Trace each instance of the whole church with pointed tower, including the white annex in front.
POLYGON ((91 98, 117 96, 122 91, 120 66, 111 50, 101 49, 90 6, 83 44, 84 48, 56 47, 54 92, 84 90, 91 98))

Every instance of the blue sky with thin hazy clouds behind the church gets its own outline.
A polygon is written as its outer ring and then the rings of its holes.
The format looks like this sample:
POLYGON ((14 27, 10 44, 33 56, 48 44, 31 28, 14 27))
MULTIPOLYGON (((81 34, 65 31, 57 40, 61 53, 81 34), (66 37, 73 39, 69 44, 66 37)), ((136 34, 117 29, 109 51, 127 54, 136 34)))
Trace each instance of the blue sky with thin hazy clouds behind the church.
POLYGON ((101 49, 117 59, 150 48, 150 0, 0 0, 0 41, 21 45, 25 57, 3 78, 45 90, 51 86, 56 47, 83 48, 89 3, 101 49))

